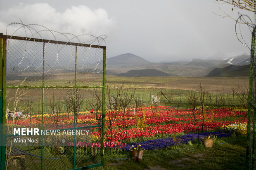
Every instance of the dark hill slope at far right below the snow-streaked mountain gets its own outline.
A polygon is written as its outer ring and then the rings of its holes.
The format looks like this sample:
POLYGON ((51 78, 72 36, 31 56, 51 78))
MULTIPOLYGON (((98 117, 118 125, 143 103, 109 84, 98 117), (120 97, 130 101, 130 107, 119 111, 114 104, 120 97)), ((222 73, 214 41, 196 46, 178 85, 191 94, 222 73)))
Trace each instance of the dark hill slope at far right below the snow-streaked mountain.
POLYGON ((214 68, 206 77, 248 77, 250 65, 229 65, 224 68, 214 68))

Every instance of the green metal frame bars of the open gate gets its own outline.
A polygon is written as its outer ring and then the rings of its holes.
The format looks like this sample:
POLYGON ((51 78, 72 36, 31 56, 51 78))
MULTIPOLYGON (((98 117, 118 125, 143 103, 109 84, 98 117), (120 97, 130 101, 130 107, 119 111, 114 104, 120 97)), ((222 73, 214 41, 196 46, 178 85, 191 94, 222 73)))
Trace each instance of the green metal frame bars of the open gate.
MULTIPOLYGON (((75 152, 73 153, 73 169, 74 170, 80 170, 80 169, 88 169, 92 167, 97 167, 97 166, 103 166, 104 163, 104 133, 105 133, 105 128, 104 128, 104 123, 105 123, 105 92, 106 92, 106 51, 107 48, 106 46, 100 46, 100 45, 92 45, 92 44, 79 44, 79 43, 72 43, 72 42, 62 42, 62 41, 54 41, 54 40, 44 40, 44 39, 36 39, 36 38, 27 38, 27 37, 17 37, 17 36, 10 36, 10 35, 3 35, 0 33, 0 61, 1 61, 1 67, 0 67, 0 124, 5 124, 6 118, 5 118, 5 110, 6 110, 6 90, 7 88, 41 88, 42 89, 42 125, 43 125, 43 103, 44 103, 44 88, 74 88, 75 89, 75 100, 74 104, 76 104, 76 88, 102 88, 102 124, 101 125, 95 125, 95 126, 84 126, 81 128, 95 128, 95 127, 102 127, 101 131, 101 163, 93 164, 93 165, 88 165, 85 167, 80 167, 80 168, 75 168, 75 152), (25 41, 33 41, 33 42, 43 42, 43 50, 45 48, 45 43, 52 43, 52 44, 68 44, 76 47, 76 59, 77 59, 77 47, 91 47, 91 48, 99 48, 103 49, 103 68, 102 68, 102 86, 77 86, 77 80, 76 80, 76 75, 77 75, 77 60, 75 60, 75 82, 74 86, 45 86, 44 85, 44 74, 45 74, 45 65, 44 65, 44 58, 45 54, 43 51, 43 77, 42 77, 42 85, 40 86, 7 86, 6 85, 6 49, 7 49, 7 39, 15 39, 15 40, 25 40, 25 41)), ((76 109, 76 107, 74 107, 76 109)), ((74 113, 76 113, 76 110, 74 110, 74 113)), ((75 125, 75 114, 74 114, 74 125, 75 125)), ((4 126, 3 126, 4 128, 4 126)), ((5 135, 5 129, 3 129, 0 126, 0 141, 1 141, 1 146, 0 147, 0 169, 4 170, 5 169, 5 138, 7 135, 5 135)), ((70 129, 77 129, 77 128, 70 128, 70 129)), ((9 137, 10 135, 8 135, 9 137)), ((74 144, 74 151, 75 151, 75 144, 74 144)), ((41 170, 43 169, 43 145, 41 149, 41 170)))

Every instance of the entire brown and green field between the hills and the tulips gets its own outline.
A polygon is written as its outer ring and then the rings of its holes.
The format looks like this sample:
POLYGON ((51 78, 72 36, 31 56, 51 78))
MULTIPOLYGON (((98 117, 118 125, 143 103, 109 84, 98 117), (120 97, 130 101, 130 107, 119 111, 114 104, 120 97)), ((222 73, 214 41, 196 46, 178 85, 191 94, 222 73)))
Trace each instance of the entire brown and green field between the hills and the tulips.
MULTIPOLYGON (((22 85, 41 85, 42 81, 38 80, 40 77, 28 77, 22 85)), ((72 85, 73 74, 62 73, 56 75, 49 75, 45 80, 45 85, 72 85)), ((128 90, 130 93, 135 91, 134 98, 143 100, 145 106, 150 106, 151 96, 158 95, 161 100, 161 105, 177 106, 179 104, 181 108, 189 108, 190 103, 188 102, 187 96, 196 94, 199 95, 199 83, 204 85, 205 92, 212 95, 211 105, 218 107, 218 100, 220 97, 225 98, 225 104, 228 106, 241 106, 237 96, 235 95, 233 88, 242 86, 246 89, 249 86, 249 78, 239 77, 118 77, 107 75, 107 88, 111 89, 114 93, 114 89, 119 89, 123 84, 123 89, 128 90), (161 93, 162 92, 162 93, 161 93), (164 94, 164 95, 163 95, 164 94), (169 102, 168 102, 168 100, 169 102)), ((77 76, 78 85, 95 85, 99 86, 102 84, 102 76, 95 74, 83 74, 78 73, 77 76)), ((7 80, 7 85, 20 85, 22 79, 19 80, 7 80)), ((21 96, 18 107, 22 110, 27 107, 27 103, 31 102, 34 112, 40 112, 42 105, 42 90, 37 89, 19 89, 19 94, 24 93, 21 96)), ((63 96, 66 95, 67 89, 45 89, 44 91, 44 112, 49 112, 49 102, 55 98, 63 102, 63 96)), ((93 89, 83 88, 80 90, 81 96, 84 100, 82 111, 90 110, 88 100, 92 99, 91 91, 93 89)), ((98 89, 101 93, 101 89, 98 89)), ((7 89, 7 105, 9 110, 14 110, 14 98, 17 95, 17 88, 7 89)), ((206 98, 205 98, 206 100, 206 98)), ((206 104, 210 105, 205 101, 206 104)), ((198 101, 199 105, 199 101, 198 101)), ((131 107, 134 107, 134 102, 131 102, 131 107)), ((62 107, 62 111, 66 112, 65 106, 62 107)))

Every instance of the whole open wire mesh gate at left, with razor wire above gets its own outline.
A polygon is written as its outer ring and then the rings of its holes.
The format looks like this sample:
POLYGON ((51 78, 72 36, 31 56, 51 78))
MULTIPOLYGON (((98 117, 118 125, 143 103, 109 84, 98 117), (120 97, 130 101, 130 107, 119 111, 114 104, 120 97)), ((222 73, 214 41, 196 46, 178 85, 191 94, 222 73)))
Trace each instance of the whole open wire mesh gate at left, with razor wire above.
POLYGON ((6 84, 1 89, 6 100, 1 123, 8 129, 2 132, 1 155, 3 148, 7 153, 1 156, 2 167, 69 170, 103 165, 105 37, 13 25, 12 34, 2 35, 6 75, 1 72, 1 79, 6 84), (93 98, 96 91, 98 100, 93 98), (31 135, 31 129, 38 133, 31 135))

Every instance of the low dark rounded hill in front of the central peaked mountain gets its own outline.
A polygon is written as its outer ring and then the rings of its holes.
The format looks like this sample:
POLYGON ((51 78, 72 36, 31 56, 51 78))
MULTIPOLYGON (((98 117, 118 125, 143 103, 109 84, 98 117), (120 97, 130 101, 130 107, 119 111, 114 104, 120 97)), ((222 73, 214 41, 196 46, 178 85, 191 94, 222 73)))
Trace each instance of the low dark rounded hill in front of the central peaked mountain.
POLYGON ((166 72, 162 72, 156 69, 144 69, 144 70, 130 70, 125 73, 118 74, 122 77, 172 77, 175 75, 170 75, 166 72))

